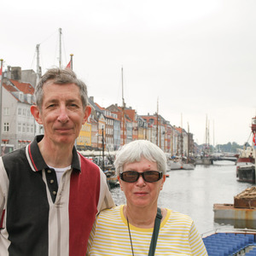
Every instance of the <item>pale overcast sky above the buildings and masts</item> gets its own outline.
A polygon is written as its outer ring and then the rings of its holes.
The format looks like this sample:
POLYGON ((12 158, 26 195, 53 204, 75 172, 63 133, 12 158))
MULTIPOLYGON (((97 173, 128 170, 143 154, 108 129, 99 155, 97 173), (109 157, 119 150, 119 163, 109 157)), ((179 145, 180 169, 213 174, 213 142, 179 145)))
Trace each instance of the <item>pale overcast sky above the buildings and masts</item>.
MULTIPOLYGON (((1 3, 4 67, 43 72, 73 54, 89 96, 159 113, 205 143, 243 144, 256 115, 255 0, 73 0, 1 3)), ((249 139, 251 143, 251 137, 249 139)))

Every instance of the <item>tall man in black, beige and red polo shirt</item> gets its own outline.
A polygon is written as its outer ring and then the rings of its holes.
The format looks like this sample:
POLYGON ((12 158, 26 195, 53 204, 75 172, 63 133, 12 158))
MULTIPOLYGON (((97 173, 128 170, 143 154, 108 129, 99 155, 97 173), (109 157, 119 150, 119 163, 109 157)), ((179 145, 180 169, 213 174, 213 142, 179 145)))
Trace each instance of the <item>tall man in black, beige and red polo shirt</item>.
POLYGON ((85 255, 96 214, 114 206, 104 173, 74 148, 91 110, 86 85, 53 68, 34 96, 44 136, 0 158, 0 255, 85 255))

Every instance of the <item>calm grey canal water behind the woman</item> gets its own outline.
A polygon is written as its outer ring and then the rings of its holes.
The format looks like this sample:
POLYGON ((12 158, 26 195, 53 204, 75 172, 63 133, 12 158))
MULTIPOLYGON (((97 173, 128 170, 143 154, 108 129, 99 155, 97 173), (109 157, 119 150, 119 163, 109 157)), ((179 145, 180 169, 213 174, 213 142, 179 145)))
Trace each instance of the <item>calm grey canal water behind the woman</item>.
MULTIPOLYGON (((193 218, 197 230, 207 233, 230 228, 255 228, 243 223, 214 220, 213 204, 234 203, 234 196, 252 186, 236 179, 234 162, 218 161, 212 166, 196 166, 195 170, 167 172, 159 206, 182 212, 193 218)), ((119 188, 111 189, 113 201, 125 204, 125 195, 119 188)))

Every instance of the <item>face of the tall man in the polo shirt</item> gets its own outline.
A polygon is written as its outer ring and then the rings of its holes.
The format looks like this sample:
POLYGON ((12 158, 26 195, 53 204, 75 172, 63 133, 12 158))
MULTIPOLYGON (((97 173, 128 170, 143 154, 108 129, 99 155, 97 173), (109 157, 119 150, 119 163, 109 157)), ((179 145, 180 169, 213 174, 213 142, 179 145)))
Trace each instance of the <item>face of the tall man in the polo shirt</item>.
POLYGON ((90 107, 83 108, 76 84, 48 81, 43 90, 42 108, 36 119, 44 125, 44 138, 49 143, 72 145, 90 115, 90 107))

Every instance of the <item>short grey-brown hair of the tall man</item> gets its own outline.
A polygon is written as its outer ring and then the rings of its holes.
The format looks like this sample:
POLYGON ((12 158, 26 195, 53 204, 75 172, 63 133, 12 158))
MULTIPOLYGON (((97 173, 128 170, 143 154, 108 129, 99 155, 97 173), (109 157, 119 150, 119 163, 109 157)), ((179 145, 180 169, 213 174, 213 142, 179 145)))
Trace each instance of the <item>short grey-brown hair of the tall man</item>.
POLYGON ((34 92, 34 102, 39 109, 42 108, 43 98, 44 98, 44 84, 49 80, 52 80, 54 84, 76 84, 80 90, 80 96, 82 100, 83 107, 85 108, 88 105, 88 96, 87 96, 87 86, 84 82, 77 78, 73 70, 61 69, 61 68, 51 68, 49 69, 42 78, 39 80, 36 85, 34 92))

